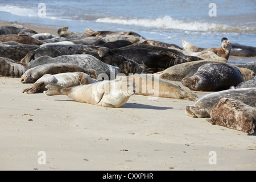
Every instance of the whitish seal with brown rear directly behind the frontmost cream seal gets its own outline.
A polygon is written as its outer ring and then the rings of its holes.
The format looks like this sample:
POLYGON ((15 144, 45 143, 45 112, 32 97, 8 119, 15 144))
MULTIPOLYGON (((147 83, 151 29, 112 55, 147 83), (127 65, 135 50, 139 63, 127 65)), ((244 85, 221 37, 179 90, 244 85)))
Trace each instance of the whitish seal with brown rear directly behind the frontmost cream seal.
POLYGON ((46 74, 39 78, 33 85, 29 88, 22 90, 22 93, 37 93, 43 92, 48 84, 57 84, 64 86, 65 88, 86 85, 97 82, 97 80, 91 78, 84 72, 73 72, 73 73, 59 73, 56 75, 46 74))

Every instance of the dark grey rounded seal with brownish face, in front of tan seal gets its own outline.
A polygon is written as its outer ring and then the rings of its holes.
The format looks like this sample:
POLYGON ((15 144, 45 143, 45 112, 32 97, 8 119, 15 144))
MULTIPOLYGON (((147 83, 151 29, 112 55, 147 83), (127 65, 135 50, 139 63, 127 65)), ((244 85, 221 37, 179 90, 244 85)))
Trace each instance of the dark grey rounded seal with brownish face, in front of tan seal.
POLYGON ((224 63, 207 63, 199 67, 191 77, 181 80, 191 90, 213 92, 229 89, 243 81, 242 73, 236 67, 224 63))

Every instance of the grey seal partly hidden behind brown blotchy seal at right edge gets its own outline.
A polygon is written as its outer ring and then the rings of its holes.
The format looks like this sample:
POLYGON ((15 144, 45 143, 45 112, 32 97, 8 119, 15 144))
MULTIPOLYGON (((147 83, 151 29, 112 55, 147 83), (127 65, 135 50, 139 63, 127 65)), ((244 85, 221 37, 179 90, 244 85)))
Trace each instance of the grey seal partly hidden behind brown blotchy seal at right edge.
POLYGON ((242 88, 207 94, 196 101, 194 105, 187 106, 185 114, 194 118, 209 118, 213 106, 223 97, 240 100, 244 104, 256 107, 256 88, 242 88))

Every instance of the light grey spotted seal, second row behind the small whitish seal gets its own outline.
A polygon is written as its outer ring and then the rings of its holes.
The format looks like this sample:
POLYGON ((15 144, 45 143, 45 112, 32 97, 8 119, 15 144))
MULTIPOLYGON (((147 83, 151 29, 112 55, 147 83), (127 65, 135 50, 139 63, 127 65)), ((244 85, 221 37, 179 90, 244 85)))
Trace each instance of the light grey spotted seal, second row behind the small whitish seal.
POLYGON ((64 55, 58 57, 41 56, 38 59, 27 63, 26 67, 30 69, 38 65, 49 63, 71 63, 84 69, 95 69, 97 75, 102 75, 107 80, 113 80, 115 78, 115 75, 120 73, 120 68, 103 63, 101 60, 97 59, 92 55, 64 55))

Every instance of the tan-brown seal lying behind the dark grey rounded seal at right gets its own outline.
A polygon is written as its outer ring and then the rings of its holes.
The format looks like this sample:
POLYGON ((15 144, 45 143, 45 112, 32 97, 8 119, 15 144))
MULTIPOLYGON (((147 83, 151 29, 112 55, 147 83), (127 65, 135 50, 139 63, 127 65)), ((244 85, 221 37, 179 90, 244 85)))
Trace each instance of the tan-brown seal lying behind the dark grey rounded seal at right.
MULTIPOLYGON (((223 62, 206 61, 206 60, 193 61, 189 63, 174 65, 173 67, 167 68, 162 72, 154 73, 154 75, 167 81, 181 81, 185 77, 193 76, 199 67, 207 63, 223 63, 223 62)), ((228 64, 228 63, 224 63, 224 64, 228 64)), ((228 64, 228 65, 236 67, 235 65, 232 65, 232 64, 228 64)), ((255 76, 255 73, 250 69, 240 68, 240 67, 236 67, 236 68, 239 69, 239 71, 242 73, 243 81, 250 80, 255 76)))

